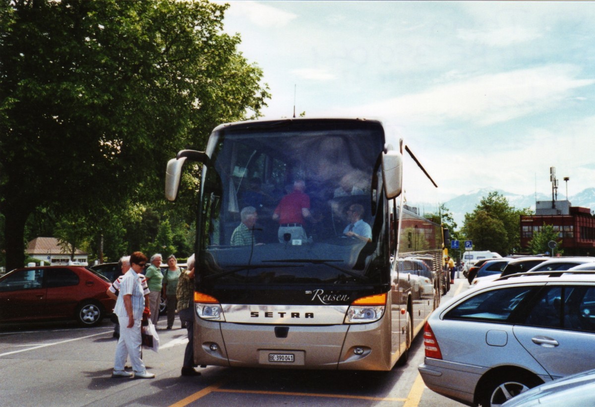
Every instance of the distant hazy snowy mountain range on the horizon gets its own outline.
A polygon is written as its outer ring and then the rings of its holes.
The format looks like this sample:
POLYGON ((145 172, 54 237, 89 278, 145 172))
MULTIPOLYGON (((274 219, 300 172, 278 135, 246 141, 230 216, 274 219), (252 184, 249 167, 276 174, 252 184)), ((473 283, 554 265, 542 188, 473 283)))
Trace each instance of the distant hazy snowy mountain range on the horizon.
MULTIPOLYGON (((552 195, 547 194, 531 194, 531 195, 519 195, 508 193, 503 190, 497 190, 495 188, 481 188, 480 190, 470 191, 469 193, 459 195, 451 198, 444 202, 444 206, 450 210, 453 218, 457 224, 456 229, 460 229, 463 226, 465 220, 465 214, 471 213, 475 210, 475 207, 481 202, 481 200, 488 196, 491 192, 496 191, 508 200, 509 205, 516 209, 530 208, 535 211, 536 201, 551 201, 552 195)), ((558 194, 558 200, 564 200, 565 196, 558 194)), ((578 194, 571 195, 568 197, 571 206, 580 206, 589 208, 591 211, 595 210, 595 188, 587 188, 578 194)))

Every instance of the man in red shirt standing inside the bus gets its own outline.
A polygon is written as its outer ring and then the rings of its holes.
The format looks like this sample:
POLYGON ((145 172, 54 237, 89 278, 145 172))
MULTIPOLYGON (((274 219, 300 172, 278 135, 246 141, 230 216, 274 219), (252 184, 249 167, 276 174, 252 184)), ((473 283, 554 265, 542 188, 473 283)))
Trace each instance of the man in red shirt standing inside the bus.
POLYGON ((308 241, 303 229, 305 219, 310 217, 310 197, 303 191, 306 183, 297 180, 293 183, 293 191, 281 198, 281 202, 273 212, 273 220, 279 221, 279 242, 301 240, 308 241), (289 239, 286 239, 289 236, 289 239))

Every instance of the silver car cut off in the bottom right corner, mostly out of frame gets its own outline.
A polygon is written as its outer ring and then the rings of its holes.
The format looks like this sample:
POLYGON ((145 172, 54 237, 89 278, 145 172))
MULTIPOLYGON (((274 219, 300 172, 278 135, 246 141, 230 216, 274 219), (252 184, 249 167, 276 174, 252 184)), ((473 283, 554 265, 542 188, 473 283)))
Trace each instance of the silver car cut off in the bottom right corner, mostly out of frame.
POLYGON ((593 406, 595 370, 572 374, 541 384, 512 397, 505 407, 584 407, 593 406))

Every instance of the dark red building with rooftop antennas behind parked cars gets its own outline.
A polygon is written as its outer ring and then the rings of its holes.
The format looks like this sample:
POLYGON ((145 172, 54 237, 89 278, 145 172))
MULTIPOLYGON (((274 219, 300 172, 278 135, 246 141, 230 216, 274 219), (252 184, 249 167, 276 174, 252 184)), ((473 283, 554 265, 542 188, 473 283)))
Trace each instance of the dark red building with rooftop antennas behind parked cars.
POLYGON ((595 217, 591 210, 570 206, 569 201, 537 201, 536 214, 521 216, 521 248, 545 225, 558 231, 564 255, 595 255, 595 217))

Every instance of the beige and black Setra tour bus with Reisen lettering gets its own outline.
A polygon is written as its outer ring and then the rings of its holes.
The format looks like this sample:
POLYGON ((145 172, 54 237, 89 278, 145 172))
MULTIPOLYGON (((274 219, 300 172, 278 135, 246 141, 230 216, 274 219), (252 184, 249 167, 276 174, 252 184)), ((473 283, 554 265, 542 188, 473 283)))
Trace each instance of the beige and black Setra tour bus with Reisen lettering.
POLYGON ((406 361, 440 302, 443 238, 425 214, 438 207, 434 181, 395 144, 374 120, 246 121, 168 162, 169 200, 185 162, 200 178, 196 365, 386 371, 406 361), (367 224, 359 234, 355 220, 367 224))

